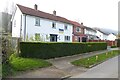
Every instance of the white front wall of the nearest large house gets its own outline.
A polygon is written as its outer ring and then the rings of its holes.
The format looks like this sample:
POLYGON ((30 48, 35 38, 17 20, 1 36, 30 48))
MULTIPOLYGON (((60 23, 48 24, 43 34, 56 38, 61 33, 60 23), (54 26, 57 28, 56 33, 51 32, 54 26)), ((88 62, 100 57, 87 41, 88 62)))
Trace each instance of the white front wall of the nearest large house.
POLYGON ((66 35, 66 36, 70 36, 71 38, 70 42, 72 42, 73 26, 70 24, 67 24, 68 30, 64 30, 64 33, 61 34, 59 33, 59 29, 64 29, 64 24, 66 23, 55 21, 56 29, 53 29, 52 22, 53 22, 52 20, 40 18, 40 26, 35 26, 35 17, 27 15, 26 16, 26 34, 30 38, 31 36, 34 36, 35 33, 40 33, 44 37, 45 41, 50 41, 50 40, 46 40, 46 35, 57 34, 58 37, 60 37, 60 39, 59 38, 57 39, 58 42, 65 42, 64 36, 66 35))

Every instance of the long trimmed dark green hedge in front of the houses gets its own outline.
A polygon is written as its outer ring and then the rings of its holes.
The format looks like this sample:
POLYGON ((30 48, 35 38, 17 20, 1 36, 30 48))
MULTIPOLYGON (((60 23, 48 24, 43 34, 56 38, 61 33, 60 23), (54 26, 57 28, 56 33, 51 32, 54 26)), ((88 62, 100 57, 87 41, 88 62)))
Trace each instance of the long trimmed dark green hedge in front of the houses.
POLYGON ((49 59, 91 51, 105 50, 107 43, 41 43, 20 42, 21 57, 49 59))

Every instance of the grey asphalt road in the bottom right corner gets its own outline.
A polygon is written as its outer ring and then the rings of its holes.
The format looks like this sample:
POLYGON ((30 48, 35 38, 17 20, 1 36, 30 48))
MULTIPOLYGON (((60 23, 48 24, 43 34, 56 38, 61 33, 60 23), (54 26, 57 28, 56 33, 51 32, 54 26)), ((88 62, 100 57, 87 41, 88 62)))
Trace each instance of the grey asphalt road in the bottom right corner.
POLYGON ((118 78, 118 57, 109 59, 89 69, 87 72, 78 74, 72 78, 118 78))

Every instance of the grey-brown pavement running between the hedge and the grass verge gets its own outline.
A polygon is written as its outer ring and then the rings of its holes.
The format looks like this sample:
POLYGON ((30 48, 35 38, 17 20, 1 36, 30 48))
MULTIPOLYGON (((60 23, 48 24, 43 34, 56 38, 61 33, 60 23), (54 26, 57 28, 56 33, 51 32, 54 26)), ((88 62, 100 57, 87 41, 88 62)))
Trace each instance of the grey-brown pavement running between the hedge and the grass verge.
POLYGON ((80 58, 90 57, 96 54, 105 53, 111 50, 117 50, 117 49, 118 48, 107 49, 107 50, 95 51, 95 52, 78 54, 73 56, 48 59, 47 61, 52 63, 53 66, 47 68, 40 68, 37 70, 26 71, 16 76, 10 76, 9 78, 66 78, 78 74, 80 75, 88 71, 88 69, 84 67, 74 66, 70 63, 71 61, 80 58))

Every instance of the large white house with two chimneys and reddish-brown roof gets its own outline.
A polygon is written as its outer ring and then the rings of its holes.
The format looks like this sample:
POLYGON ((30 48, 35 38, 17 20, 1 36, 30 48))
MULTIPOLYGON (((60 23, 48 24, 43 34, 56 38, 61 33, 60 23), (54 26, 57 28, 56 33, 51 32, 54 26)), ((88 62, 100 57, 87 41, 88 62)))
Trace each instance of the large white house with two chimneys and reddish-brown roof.
POLYGON ((12 17, 12 37, 22 38, 23 41, 37 40, 44 42, 72 42, 73 25, 63 17, 42 12, 22 5, 16 5, 12 17))

